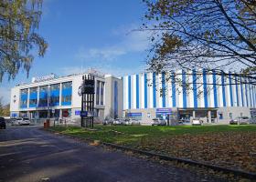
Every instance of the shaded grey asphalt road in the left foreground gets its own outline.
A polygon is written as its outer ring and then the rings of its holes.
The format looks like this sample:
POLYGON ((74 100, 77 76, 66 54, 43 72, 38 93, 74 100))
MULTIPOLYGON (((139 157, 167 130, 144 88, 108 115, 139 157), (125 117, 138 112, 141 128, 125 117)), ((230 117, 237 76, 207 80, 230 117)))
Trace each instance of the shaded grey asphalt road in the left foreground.
POLYGON ((122 152, 91 147, 37 126, 0 130, 0 181, 219 181, 122 152))

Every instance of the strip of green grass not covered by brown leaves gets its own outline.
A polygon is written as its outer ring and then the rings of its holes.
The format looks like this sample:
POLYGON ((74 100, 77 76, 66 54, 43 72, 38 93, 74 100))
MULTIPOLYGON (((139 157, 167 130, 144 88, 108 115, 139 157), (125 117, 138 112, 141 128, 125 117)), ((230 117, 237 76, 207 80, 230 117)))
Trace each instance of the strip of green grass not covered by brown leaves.
POLYGON ((79 126, 56 126, 51 129, 73 136, 82 136, 92 140, 111 142, 119 145, 138 146, 142 137, 162 139, 171 136, 189 134, 200 135, 217 132, 256 132, 256 125, 244 126, 100 126, 88 130, 79 126))

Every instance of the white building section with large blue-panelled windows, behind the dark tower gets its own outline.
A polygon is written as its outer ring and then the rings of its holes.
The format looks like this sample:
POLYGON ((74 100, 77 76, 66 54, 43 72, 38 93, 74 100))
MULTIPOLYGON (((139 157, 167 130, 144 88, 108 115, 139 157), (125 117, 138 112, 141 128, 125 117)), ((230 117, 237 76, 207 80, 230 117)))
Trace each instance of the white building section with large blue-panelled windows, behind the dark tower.
MULTIPOLYGON (((10 116, 27 116, 30 119, 67 117, 69 120, 79 121, 80 86, 84 75, 43 76, 33 78, 30 84, 13 87, 11 89, 10 116)), ((119 90, 114 90, 112 87, 122 86, 122 79, 101 74, 91 75, 95 77, 95 121, 101 122, 106 116, 121 117, 123 115, 122 99, 114 97, 119 94, 119 90), (106 90, 106 88, 108 89, 106 90), (115 102, 110 103, 113 99, 115 102)), ((123 93, 120 96, 123 96, 123 93)))

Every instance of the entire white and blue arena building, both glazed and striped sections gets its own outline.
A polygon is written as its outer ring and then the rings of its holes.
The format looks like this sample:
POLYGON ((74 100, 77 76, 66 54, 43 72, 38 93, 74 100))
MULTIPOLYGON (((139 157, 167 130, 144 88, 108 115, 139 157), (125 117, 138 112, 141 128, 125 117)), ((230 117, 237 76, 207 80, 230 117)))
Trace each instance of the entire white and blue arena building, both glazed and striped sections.
MULTIPOLYGON (((226 123, 238 116, 254 117, 255 86, 249 79, 216 72, 176 71, 115 77, 90 70, 95 76, 94 116, 132 117, 149 124, 153 118, 226 123)), ((80 121, 80 85, 84 74, 42 76, 12 88, 11 116, 80 121)))

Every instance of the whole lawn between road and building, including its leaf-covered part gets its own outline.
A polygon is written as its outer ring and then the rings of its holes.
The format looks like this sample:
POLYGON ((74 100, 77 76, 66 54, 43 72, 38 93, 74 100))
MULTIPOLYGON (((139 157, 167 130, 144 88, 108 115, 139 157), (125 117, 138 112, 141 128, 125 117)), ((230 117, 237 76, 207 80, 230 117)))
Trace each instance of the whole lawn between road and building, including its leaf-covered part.
POLYGON ((76 126, 61 133, 143 148, 174 157, 256 172, 256 125, 244 126, 76 126))

